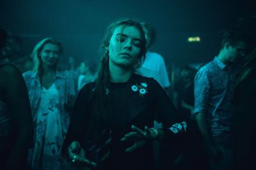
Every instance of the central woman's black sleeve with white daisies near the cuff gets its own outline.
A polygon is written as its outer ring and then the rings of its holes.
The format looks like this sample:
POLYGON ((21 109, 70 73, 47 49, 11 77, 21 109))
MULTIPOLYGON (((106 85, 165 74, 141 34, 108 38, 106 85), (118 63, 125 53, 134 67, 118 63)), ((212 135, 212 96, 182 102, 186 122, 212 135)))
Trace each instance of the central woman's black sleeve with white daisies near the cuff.
POLYGON ((188 131, 187 122, 182 120, 170 97, 167 96, 161 85, 153 79, 152 87, 154 110, 164 125, 164 141, 180 142, 184 140, 188 131))

